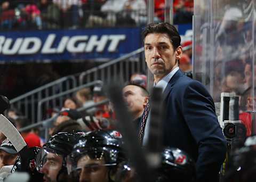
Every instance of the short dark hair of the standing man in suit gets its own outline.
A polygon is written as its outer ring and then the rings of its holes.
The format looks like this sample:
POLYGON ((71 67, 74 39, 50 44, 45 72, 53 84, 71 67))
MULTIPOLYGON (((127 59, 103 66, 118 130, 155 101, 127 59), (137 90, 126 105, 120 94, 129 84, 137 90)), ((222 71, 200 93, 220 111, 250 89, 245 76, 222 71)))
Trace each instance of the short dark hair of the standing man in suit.
POLYGON ((150 23, 142 31, 143 42, 148 34, 167 34, 174 49, 180 46, 181 38, 178 30, 170 23, 150 23))

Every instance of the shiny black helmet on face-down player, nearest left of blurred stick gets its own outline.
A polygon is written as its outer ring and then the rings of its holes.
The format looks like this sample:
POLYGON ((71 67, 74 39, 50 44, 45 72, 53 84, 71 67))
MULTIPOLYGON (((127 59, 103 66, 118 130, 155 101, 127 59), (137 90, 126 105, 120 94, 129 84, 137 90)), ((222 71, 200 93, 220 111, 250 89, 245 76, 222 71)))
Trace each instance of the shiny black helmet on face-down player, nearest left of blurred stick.
POLYGON ((85 136, 79 139, 73 151, 68 155, 68 172, 78 173, 82 168, 91 168, 91 164, 86 162, 78 165, 78 161, 83 158, 98 161, 103 159, 104 163, 100 164, 100 166, 108 166, 112 171, 110 173, 115 173, 116 169, 112 169, 125 159, 121 133, 116 130, 95 130, 86 133, 85 136))

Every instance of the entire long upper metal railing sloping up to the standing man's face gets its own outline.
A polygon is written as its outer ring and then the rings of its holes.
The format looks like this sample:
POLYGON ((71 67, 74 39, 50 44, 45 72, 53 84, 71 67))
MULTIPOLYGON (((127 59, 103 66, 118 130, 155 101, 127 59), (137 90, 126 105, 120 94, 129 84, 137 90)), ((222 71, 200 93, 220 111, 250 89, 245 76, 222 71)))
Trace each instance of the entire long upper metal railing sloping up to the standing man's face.
MULTIPOLYGON (((49 84, 13 98, 10 101, 11 108, 14 107, 20 110, 26 117, 30 118, 33 123, 41 121, 42 115, 36 115, 36 113, 38 113, 38 102, 46 97, 75 88, 77 84, 81 86, 98 79, 103 82, 115 81, 117 79, 127 81, 135 72, 146 72, 145 56, 142 53, 143 47, 122 57, 101 64, 98 67, 52 81, 49 84), (77 77, 79 78, 78 81, 77 77)), ((63 97, 60 97, 58 103, 62 102, 63 97)), ((57 100, 53 101, 52 106, 57 106, 57 100)))

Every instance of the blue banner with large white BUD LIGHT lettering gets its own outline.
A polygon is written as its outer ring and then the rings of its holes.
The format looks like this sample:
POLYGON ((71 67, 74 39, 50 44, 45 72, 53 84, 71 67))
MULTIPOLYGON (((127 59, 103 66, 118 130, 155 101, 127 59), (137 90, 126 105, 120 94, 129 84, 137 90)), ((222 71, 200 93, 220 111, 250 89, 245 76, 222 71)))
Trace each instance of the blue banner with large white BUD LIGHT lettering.
POLYGON ((140 28, 0 32, 1 62, 102 61, 140 47, 140 28))

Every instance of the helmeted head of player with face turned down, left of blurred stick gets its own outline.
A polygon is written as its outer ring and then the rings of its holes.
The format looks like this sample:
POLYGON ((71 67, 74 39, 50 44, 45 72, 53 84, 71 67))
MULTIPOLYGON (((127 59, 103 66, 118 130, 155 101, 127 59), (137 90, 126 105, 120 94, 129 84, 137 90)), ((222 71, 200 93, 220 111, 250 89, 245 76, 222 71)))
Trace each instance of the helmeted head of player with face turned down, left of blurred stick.
POLYGON ((79 181, 115 181, 118 164, 124 159, 122 135, 118 131, 91 131, 68 156, 68 171, 79 181))

